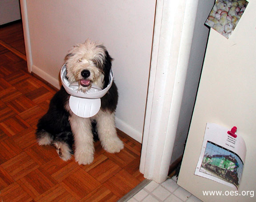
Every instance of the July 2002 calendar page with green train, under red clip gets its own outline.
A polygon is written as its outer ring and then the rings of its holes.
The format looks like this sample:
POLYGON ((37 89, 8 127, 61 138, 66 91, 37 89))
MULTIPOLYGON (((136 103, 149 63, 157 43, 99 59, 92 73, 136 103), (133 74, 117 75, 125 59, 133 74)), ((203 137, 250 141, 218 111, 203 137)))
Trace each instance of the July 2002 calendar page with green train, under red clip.
POLYGON ((246 146, 230 129, 207 123, 195 174, 238 190, 243 173, 246 146))

